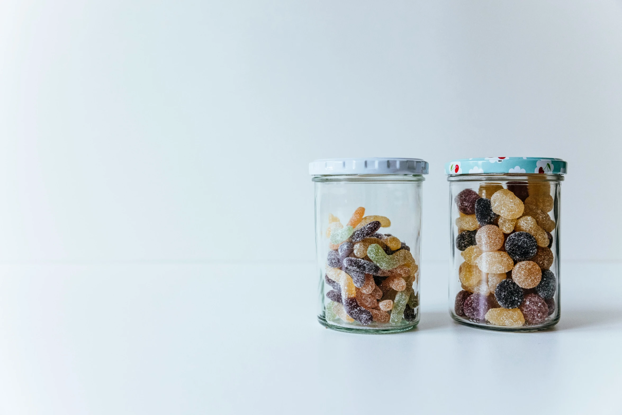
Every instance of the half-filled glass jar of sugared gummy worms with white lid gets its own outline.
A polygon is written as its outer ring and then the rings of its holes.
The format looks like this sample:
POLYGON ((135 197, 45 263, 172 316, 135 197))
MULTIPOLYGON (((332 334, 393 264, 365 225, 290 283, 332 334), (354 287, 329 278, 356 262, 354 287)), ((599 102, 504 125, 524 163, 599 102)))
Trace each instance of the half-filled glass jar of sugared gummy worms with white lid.
POLYGON ((320 324, 359 333, 419 323, 420 159, 328 159, 315 183, 320 324))

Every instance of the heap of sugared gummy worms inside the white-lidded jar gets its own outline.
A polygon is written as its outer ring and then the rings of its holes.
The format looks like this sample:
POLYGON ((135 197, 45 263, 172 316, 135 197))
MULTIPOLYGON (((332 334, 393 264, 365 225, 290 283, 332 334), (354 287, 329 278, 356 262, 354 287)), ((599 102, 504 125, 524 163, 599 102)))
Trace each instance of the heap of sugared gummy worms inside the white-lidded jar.
POLYGON ((332 290, 326 293, 326 320, 373 327, 410 324, 419 305, 412 289, 419 267, 409 246, 377 232, 391 226, 389 218, 364 214, 365 208, 357 208, 346 226, 328 215, 324 281, 332 290))

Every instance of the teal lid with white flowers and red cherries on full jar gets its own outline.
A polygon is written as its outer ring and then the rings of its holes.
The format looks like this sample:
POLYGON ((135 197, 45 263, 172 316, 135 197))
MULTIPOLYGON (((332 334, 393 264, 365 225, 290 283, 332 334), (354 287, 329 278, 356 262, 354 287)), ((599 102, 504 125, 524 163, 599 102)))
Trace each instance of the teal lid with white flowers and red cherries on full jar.
POLYGON ((565 174, 567 163, 546 157, 483 157, 445 164, 445 174, 565 174))

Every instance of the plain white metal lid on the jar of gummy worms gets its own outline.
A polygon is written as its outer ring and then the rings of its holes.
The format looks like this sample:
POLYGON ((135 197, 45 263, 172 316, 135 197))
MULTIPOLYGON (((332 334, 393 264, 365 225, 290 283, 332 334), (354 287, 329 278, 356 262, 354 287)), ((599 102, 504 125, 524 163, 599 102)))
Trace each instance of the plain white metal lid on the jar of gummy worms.
POLYGON ((401 157, 322 159, 309 163, 309 174, 428 174, 428 162, 422 159, 404 159, 401 157))

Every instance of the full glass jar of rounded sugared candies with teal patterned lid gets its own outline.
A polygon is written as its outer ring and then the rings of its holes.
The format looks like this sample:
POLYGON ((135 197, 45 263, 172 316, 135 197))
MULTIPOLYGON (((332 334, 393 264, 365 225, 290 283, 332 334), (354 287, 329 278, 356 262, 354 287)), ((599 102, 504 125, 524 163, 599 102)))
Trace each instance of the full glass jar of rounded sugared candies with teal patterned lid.
POLYGON ((461 159, 445 165, 454 320, 509 331, 557 324, 565 172, 565 161, 539 157, 461 159))

